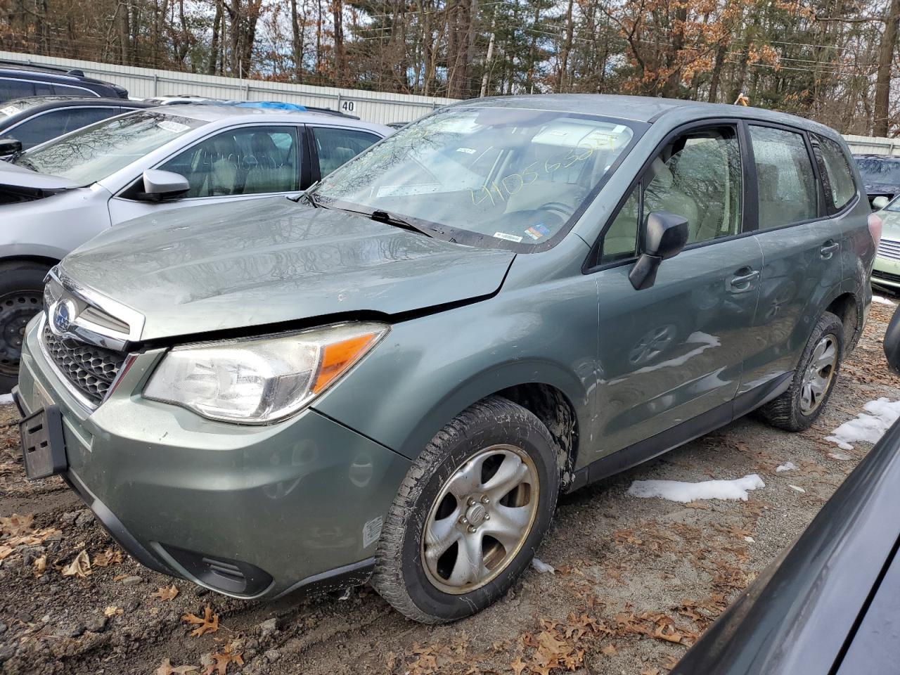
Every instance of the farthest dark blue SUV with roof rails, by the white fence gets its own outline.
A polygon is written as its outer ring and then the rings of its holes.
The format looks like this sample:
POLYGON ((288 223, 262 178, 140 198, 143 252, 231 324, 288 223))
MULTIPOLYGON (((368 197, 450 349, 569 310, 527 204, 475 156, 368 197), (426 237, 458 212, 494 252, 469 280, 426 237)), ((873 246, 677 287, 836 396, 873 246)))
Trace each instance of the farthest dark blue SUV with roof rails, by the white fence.
POLYGON ((81 70, 0 60, 0 103, 26 96, 54 95, 128 98, 128 90, 87 77, 81 70))

